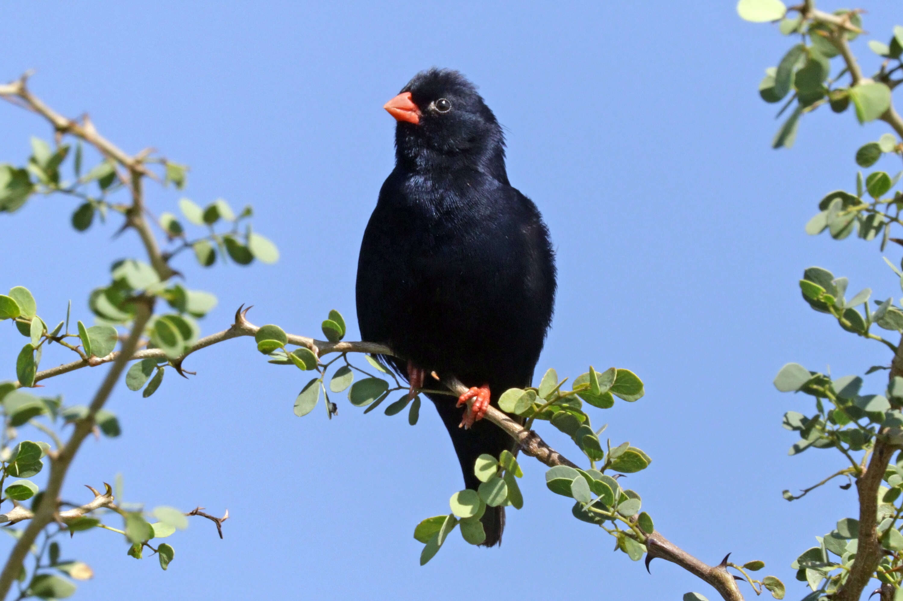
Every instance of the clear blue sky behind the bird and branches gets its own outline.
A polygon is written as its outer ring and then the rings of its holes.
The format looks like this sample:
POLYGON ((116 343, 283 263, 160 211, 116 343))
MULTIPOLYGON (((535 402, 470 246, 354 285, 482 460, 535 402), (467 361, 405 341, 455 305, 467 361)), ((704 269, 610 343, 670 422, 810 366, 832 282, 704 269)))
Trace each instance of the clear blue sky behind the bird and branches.
MULTIPOLYGON (((741 22, 730 0, 339 4, 8 3, 0 79, 34 68, 33 91, 63 113, 88 111, 126 150, 154 146, 191 165, 186 196, 255 205, 257 231, 283 252, 278 264, 176 263, 190 287, 219 296, 205 332, 246 303, 255 323, 309 334, 338 308, 355 337, 358 243, 394 160, 395 122, 382 105, 419 69, 461 69, 506 126, 511 181, 543 211, 558 252, 537 376, 589 364, 635 370, 647 396, 593 420, 610 423, 613 443, 653 458, 628 482, 656 527, 709 562, 728 551, 765 560, 787 598, 804 596, 789 563, 852 514, 853 498, 836 486, 781 498, 841 461, 826 451, 787 457, 796 434, 781 416, 811 406, 771 380, 788 361, 840 375, 889 360, 812 312, 796 285, 820 265, 850 277, 853 292, 899 295, 875 245, 803 232, 825 192, 852 186, 853 154, 882 126, 821 110, 804 118, 793 150, 770 150, 775 107, 757 86, 791 42, 741 22)), ((886 41, 890 6, 871 4, 875 35, 865 39, 886 41)), ((870 71, 877 58, 865 39, 854 48, 870 71)), ((0 131, 0 162, 14 163, 30 135, 50 134, 5 104, 0 131)), ((152 187, 149 203, 172 211, 180 196, 152 187)), ((88 292, 107 282, 108 261, 140 252, 132 232, 111 239, 113 225, 73 232, 74 206, 35 199, 0 215, 0 287, 31 288, 48 322, 70 297, 90 319, 88 292)), ((898 260, 898 248, 888 256, 898 260)), ((22 340, 0 333, 2 378, 22 340)), ((44 366, 63 360, 48 353, 44 366)), ((122 472, 126 501, 228 507, 226 538, 192 522, 170 539, 176 556, 163 572, 126 557, 114 533, 79 535, 63 556, 97 574, 80 598, 715 598, 664 561, 649 576, 612 553, 608 535, 545 489, 533 460, 524 461, 526 505, 508 511, 500 549, 455 534, 421 568, 414 525, 447 512, 461 487, 432 406, 413 428, 404 415, 362 415, 347 401, 338 419, 297 418, 306 379, 266 364, 247 339, 186 367, 198 376, 170 373, 149 399, 116 389, 109 406, 124 434, 86 442, 65 496, 87 499, 82 484, 122 472)), ((102 373, 82 370, 46 390, 85 403, 102 373)), ((868 380, 872 392, 884 378, 868 380)), ((563 434, 541 433, 573 454, 563 434)))

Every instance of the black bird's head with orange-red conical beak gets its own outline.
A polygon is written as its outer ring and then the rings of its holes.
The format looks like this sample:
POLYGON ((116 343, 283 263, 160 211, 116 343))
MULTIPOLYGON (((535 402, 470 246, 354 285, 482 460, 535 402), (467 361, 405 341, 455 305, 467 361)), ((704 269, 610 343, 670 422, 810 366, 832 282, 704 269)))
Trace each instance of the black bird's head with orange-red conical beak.
POLYGON ((423 167, 468 163, 507 181, 501 126, 477 88, 458 71, 421 71, 384 108, 398 122, 399 160, 423 167))

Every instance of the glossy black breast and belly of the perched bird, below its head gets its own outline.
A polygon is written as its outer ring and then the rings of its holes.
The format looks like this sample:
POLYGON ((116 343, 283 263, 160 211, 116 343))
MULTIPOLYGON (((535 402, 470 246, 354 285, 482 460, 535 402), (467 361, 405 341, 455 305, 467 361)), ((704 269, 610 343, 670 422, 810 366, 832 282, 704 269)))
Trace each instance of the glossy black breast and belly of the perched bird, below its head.
POLYGON ((467 169, 386 179, 358 260, 364 340, 497 396, 529 385, 554 287, 545 224, 517 189, 467 169))

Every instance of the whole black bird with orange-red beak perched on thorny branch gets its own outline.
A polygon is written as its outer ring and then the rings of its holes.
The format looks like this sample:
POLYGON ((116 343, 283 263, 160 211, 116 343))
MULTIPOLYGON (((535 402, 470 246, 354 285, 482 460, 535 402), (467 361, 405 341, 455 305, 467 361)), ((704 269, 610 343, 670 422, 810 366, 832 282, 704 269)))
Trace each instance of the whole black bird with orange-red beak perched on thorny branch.
MULTIPOLYGON (((360 333, 404 358, 385 360, 412 394, 429 373, 471 387, 457 405, 428 396, 476 489, 479 454, 514 446, 479 420, 505 390, 533 380, 552 320, 554 251, 536 205, 508 183, 501 126, 470 81, 422 71, 385 108, 398 122, 396 167, 360 245, 360 333)), ((504 509, 488 507, 482 523, 483 544, 498 544, 504 509)))

